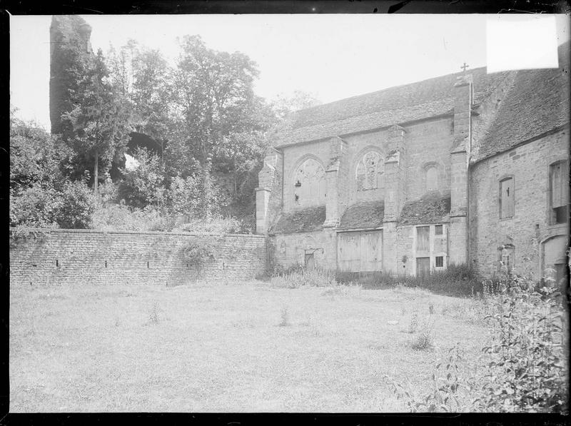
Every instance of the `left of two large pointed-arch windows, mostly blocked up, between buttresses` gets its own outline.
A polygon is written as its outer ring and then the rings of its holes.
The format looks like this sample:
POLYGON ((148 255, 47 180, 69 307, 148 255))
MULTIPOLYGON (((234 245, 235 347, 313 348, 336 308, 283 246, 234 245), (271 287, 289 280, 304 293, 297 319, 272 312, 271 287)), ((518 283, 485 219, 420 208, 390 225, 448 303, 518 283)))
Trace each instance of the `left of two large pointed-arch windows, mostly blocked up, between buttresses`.
POLYGON ((325 203, 325 170, 314 158, 303 161, 293 175, 295 206, 325 203))

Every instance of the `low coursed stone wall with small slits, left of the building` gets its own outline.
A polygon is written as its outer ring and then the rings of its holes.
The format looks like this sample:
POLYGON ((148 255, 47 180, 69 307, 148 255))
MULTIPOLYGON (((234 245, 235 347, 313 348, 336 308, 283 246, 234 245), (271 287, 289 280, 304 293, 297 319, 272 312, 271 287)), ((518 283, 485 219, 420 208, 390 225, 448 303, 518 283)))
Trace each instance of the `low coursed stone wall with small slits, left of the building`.
POLYGON ((30 230, 10 240, 11 285, 156 283, 180 285, 248 280, 266 270, 263 235, 101 230, 30 230), (183 246, 209 243, 214 255, 197 267, 183 246), (199 275, 198 275, 199 274, 199 275))

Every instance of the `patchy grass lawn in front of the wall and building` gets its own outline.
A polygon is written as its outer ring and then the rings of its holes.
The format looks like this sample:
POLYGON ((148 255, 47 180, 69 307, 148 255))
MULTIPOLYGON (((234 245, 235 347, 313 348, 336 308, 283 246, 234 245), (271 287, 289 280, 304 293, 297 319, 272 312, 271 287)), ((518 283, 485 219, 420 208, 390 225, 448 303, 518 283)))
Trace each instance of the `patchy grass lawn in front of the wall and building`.
POLYGON ((406 411, 383 376, 421 392, 455 343, 475 360, 470 303, 256 281, 11 288, 10 411, 406 411), (427 328, 434 348, 413 349, 427 328))

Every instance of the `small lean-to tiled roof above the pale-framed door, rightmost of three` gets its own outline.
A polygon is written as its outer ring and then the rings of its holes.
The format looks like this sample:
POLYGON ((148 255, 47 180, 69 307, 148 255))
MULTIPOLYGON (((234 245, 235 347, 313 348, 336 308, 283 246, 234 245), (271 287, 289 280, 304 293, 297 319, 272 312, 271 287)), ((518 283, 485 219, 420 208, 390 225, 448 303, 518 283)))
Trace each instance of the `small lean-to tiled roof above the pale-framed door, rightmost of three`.
POLYGON ((418 225, 420 223, 442 222, 450 213, 450 195, 438 192, 425 194, 420 200, 409 201, 400 211, 400 225, 418 225))

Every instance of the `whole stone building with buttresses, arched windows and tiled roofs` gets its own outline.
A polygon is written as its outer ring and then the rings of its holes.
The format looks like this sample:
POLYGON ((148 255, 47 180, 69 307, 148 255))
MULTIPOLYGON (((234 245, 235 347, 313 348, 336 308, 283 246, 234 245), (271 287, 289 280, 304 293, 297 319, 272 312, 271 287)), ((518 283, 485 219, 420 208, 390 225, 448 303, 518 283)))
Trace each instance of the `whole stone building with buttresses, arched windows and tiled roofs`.
POLYGON ((256 189, 274 261, 565 274, 568 50, 559 69, 478 68, 295 113, 256 189))

